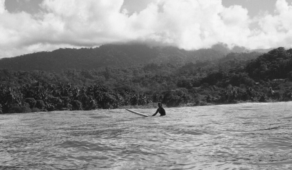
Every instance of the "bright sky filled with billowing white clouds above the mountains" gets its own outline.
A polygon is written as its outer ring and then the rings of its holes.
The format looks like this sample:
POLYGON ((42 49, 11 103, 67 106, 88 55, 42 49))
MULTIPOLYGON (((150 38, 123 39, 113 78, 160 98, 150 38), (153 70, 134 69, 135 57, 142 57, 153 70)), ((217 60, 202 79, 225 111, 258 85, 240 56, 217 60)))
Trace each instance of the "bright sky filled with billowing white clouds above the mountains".
POLYGON ((292 0, 0 0, 0 58, 138 42, 292 48, 292 0))

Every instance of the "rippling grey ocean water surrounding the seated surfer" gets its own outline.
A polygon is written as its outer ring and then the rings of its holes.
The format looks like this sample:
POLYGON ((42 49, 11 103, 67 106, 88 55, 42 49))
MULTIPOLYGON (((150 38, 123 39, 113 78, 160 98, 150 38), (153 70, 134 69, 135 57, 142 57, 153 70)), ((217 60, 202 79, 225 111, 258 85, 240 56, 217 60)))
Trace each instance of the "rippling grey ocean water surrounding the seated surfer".
POLYGON ((0 115, 0 169, 292 169, 291 109, 280 102, 165 108, 166 116, 146 118, 124 109, 0 115))

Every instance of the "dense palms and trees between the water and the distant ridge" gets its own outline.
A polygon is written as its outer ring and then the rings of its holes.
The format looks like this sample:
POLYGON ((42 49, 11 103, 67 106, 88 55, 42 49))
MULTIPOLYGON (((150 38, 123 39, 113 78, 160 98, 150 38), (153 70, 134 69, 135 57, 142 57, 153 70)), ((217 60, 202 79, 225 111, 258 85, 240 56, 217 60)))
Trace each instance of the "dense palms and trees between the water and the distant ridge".
POLYGON ((157 101, 168 107, 290 101, 291 80, 292 49, 281 47, 262 55, 232 52, 185 64, 151 62, 57 73, 1 69, 0 113, 122 108, 157 101))

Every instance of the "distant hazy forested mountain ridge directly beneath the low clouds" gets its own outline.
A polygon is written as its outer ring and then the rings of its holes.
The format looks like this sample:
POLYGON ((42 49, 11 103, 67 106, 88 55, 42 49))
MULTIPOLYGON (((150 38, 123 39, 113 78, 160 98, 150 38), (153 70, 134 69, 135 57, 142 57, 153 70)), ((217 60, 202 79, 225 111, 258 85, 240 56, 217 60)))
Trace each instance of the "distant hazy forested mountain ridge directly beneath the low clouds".
MULTIPOLYGON (((235 50, 236 51, 236 50, 235 50)), ((18 57, 0 59, 0 68, 13 71, 55 71, 66 69, 99 69, 109 67, 128 67, 139 64, 175 64, 198 61, 215 61, 229 53, 223 45, 212 49, 193 51, 175 47, 149 47, 143 44, 101 45, 98 48, 58 49, 52 52, 36 52, 18 57)), ((261 53, 256 52, 258 57, 261 53)), ((245 58, 246 59, 246 58, 245 58)))

